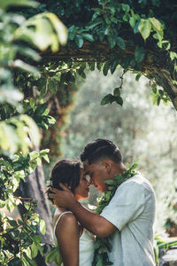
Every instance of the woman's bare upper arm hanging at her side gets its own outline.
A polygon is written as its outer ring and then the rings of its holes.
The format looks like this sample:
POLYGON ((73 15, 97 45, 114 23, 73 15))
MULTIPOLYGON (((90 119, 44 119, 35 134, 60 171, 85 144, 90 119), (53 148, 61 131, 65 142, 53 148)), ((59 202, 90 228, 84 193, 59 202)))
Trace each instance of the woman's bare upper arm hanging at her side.
POLYGON ((79 229, 73 214, 65 214, 56 227, 58 247, 62 255, 64 266, 79 265, 79 229))

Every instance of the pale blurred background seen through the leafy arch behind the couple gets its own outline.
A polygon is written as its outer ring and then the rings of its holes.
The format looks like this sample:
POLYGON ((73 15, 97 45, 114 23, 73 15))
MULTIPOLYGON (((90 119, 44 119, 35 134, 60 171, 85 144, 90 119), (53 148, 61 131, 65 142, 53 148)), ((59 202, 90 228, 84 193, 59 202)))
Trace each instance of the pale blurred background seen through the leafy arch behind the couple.
MULTIPOLYGON (((148 79, 124 74, 121 97, 123 106, 115 102, 101 106, 101 99, 119 87, 121 69, 114 74, 88 73, 86 80, 76 84, 79 90, 73 98, 69 112, 65 112, 62 128, 54 131, 59 139, 58 155, 50 153, 50 164, 45 164, 46 182, 50 170, 60 159, 80 159, 85 145, 97 137, 111 139, 124 157, 124 163, 139 158, 138 170, 150 180, 157 196, 156 231, 170 236, 177 233, 177 113, 171 103, 154 106, 150 98, 148 79), (71 111, 72 110, 72 111, 71 111)), ((43 137, 42 145, 49 146, 50 138, 43 137)), ((99 193, 91 188, 89 200, 82 203, 96 205, 99 193)), ((53 212, 53 207, 51 206, 53 212)))

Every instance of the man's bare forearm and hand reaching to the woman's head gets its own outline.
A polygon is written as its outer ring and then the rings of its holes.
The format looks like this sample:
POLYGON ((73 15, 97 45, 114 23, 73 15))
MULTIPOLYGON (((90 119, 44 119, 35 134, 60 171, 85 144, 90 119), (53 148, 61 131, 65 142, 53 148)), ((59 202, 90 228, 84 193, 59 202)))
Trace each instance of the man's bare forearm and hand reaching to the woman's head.
POLYGON ((89 211, 86 207, 83 207, 80 202, 75 200, 73 193, 70 192, 63 184, 60 184, 60 186, 64 189, 64 191, 58 191, 57 189, 50 188, 50 191, 53 192, 50 193, 50 198, 54 199, 54 202, 58 207, 66 207, 70 209, 84 228, 91 231, 98 238, 105 238, 117 229, 104 217, 89 211))

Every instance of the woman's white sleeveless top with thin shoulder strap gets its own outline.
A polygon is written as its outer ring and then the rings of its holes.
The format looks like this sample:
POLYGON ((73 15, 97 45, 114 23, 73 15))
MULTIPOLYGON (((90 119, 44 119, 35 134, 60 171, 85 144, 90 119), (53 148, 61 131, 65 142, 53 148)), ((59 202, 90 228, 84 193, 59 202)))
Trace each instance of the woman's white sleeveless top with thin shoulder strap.
MULTIPOLYGON (((53 235, 54 235, 54 240, 57 245, 58 241, 56 238, 56 227, 58 225, 59 219, 65 215, 66 213, 72 213, 70 211, 66 211, 62 213, 59 217, 58 220, 54 226, 53 229, 53 235)), ((94 243, 95 243, 95 238, 92 233, 87 231, 86 229, 83 229, 83 232, 80 237, 80 243, 79 243, 79 266, 91 266, 94 258, 94 243)), ((64 264, 62 263, 61 266, 64 264)))

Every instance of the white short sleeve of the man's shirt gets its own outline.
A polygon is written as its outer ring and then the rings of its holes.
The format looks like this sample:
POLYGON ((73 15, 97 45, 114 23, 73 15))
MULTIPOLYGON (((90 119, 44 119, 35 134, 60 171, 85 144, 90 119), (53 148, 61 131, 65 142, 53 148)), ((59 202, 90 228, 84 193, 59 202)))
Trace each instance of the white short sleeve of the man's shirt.
POLYGON ((144 204, 142 184, 124 183, 119 186, 108 206, 104 207, 101 216, 121 231, 127 223, 141 215, 144 204))

